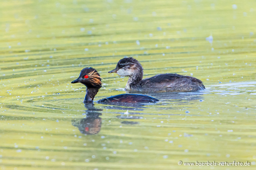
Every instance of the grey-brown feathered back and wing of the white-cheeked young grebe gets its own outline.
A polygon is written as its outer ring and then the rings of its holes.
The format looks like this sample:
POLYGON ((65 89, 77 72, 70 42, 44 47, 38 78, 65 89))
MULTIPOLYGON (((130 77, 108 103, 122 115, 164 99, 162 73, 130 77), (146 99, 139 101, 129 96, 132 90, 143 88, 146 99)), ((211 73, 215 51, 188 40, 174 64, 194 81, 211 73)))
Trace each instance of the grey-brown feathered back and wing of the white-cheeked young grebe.
POLYGON ((205 89, 203 82, 191 76, 180 74, 159 74, 143 79, 142 88, 163 89, 166 91, 191 91, 205 89))

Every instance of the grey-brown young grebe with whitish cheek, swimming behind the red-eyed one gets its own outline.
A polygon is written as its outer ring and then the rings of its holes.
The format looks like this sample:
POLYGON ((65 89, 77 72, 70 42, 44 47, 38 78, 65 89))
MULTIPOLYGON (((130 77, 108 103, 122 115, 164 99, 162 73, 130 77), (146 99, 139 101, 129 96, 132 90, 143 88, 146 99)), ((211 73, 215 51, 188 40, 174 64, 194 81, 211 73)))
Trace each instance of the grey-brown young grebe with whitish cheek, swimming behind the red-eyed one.
POLYGON ((134 58, 123 58, 118 61, 116 68, 109 73, 129 76, 125 86, 126 91, 150 92, 187 92, 205 89, 203 82, 191 76, 179 74, 159 74, 143 79, 143 67, 134 58))

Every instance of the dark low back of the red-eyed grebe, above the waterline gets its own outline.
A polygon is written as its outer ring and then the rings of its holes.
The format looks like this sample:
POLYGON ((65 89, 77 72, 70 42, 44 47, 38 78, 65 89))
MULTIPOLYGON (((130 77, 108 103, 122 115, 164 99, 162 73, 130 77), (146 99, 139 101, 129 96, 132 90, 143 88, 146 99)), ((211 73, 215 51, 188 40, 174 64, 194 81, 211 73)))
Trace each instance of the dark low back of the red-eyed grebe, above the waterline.
POLYGON ((154 103, 157 101, 159 100, 147 95, 121 94, 101 99, 98 102, 154 103))

